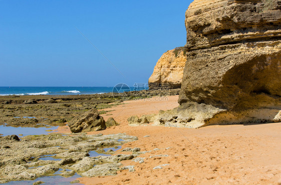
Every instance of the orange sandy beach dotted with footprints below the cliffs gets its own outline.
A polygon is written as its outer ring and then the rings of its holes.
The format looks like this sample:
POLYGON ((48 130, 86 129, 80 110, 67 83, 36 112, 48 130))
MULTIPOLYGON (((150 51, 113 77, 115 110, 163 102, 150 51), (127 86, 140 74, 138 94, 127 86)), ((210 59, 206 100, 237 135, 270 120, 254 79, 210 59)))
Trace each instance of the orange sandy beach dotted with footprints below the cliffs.
MULTIPOLYGON (((280 184, 281 136, 280 123, 247 125, 214 125, 199 129, 153 126, 128 126, 126 119, 132 115, 157 113, 177 107, 177 96, 158 101, 125 101, 113 110, 106 120, 113 117, 120 125, 88 134, 117 134, 137 136, 135 142, 123 148, 139 147, 152 151, 139 157, 139 164, 122 161, 123 166, 135 166, 135 172, 123 170, 116 176, 79 178, 80 183, 92 184, 280 184), (144 137, 149 136, 149 137, 144 137), (160 149, 160 150, 158 150, 160 149), (162 169, 155 169, 159 165, 162 169)), ((109 109, 103 109, 109 110, 109 109)), ((69 132, 59 127, 60 132, 69 132)), ((126 154, 117 151, 116 154, 126 154)))

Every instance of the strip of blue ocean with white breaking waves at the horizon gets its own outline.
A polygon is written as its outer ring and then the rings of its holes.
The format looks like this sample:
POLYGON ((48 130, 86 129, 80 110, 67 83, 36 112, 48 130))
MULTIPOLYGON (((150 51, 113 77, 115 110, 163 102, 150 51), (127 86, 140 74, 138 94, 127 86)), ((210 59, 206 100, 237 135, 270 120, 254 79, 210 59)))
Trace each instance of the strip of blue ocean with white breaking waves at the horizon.
MULTIPOLYGON (((112 92, 113 88, 114 87, 0 87, 0 96, 101 94, 112 92)), ((129 89, 133 90, 133 87, 129 87, 129 89)))

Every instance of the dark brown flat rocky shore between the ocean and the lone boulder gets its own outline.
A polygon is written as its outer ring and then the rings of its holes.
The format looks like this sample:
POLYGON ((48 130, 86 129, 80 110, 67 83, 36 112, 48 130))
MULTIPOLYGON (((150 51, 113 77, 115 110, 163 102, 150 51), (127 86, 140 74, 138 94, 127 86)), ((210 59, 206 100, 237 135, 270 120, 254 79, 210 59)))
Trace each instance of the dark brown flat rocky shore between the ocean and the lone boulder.
MULTIPOLYGON (((120 105, 124 100, 178 94, 179 89, 162 89, 91 95, 0 96, 0 125, 6 123, 6 126, 35 128, 64 126, 73 117, 92 108, 99 110, 120 105)), ((99 114, 109 115, 110 112, 100 111, 99 114)))

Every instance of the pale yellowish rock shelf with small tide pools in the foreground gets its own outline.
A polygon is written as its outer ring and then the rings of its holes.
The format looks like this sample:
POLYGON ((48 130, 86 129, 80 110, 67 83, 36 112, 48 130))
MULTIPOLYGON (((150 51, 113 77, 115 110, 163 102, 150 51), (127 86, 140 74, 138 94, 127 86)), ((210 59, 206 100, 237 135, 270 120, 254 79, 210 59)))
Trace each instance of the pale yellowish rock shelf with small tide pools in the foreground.
POLYGON ((62 177, 75 173, 81 177, 116 175, 121 169, 133 169, 121 167, 119 162, 137 157, 140 149, 126 155, 113 155, 113 150, 104 152, 103 149, 117 148, 135 140, 137 137, 125 134, 31 135, 21 140, 15 135, 1 137, 0 183, 35 180, 54 176, 57 171, 62 177), (92 157, 90 151, 94 151, 92 157))

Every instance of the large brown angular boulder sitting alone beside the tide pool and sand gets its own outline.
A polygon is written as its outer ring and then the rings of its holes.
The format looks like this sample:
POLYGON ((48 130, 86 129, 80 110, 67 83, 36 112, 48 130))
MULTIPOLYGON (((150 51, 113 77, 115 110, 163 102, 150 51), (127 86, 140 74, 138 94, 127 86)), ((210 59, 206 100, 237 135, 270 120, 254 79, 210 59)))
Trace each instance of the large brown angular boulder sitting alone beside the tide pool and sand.
POLYGON ((73 133, 91 132, 106 129, 105 121, 99 116, 98 111, 91 109, 81 116, 74 117, 68 126, 73 133))

